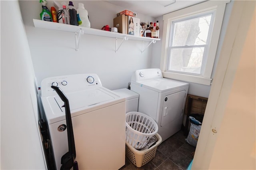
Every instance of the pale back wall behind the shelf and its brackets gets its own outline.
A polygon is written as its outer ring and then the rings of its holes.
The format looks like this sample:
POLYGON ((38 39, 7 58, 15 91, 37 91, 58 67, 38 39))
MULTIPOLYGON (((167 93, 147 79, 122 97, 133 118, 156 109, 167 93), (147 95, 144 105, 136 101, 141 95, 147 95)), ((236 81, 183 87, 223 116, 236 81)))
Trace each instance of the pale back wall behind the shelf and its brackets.
MULTIPOLYGON (((48 8, 53 6, 53 1, 47 2, 48 8)), ((125 10, 103 1, 73 1, 76 8, 78 2, 84 3, 91 28, 96 29, 101 29, 106 24, 113 27, 113 18, 118 12, 125 10)), ((79 50, 75 51, 73 33, 34 28, 32 20, 40 19, 42 11, 38 0, 22 0, 20 8, 39 85, 45 77, 96 73, 104 87, 119 89, 128 86, 136 69, 150 68, 152 45, 141 53, 142 42, 128 40, 115 53, 115 38, 83 35, 79 50)), ((139 13, 137 17, 141 22, 154 21, 154 18, 139 13)), ((118 44, 120 42, 118 40, 118 44)))

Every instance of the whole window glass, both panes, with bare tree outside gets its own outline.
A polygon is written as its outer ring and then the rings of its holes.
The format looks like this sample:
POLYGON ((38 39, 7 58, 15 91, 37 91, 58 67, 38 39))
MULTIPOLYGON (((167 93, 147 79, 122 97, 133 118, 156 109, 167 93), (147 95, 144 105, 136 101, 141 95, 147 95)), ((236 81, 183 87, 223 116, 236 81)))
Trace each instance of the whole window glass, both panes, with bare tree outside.
POLYGON ((168 70, 200 74, 211 14, 172 23, 168 70))

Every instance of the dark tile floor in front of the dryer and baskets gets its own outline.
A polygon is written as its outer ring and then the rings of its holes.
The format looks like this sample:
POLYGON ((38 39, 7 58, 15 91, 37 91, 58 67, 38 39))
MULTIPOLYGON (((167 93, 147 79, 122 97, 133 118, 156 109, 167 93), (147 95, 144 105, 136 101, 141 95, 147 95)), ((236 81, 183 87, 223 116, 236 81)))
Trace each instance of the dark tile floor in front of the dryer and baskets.
POLYGON ((196 149, 185 141, 186 137, 180 130, 157 147, 156 155, 150 162, 138 168, 126 158, 120 170, 186 170, 196 149))

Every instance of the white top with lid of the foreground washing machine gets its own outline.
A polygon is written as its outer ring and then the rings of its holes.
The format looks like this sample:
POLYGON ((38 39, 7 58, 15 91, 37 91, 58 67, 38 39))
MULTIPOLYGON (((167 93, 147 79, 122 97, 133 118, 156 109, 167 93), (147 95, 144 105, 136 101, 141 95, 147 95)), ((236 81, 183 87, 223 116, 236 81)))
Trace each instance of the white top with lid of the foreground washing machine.
MULTIPOLYGON (((124 97, 119 97, 104 87, 65 93, 65 95, 69 101, 71 117, 125 101, 124 97)), ((42 105, 48 124, 66 119, 65 108, 63 107, 64 102, 57 94, 55 96, 42 97, 42 105)))

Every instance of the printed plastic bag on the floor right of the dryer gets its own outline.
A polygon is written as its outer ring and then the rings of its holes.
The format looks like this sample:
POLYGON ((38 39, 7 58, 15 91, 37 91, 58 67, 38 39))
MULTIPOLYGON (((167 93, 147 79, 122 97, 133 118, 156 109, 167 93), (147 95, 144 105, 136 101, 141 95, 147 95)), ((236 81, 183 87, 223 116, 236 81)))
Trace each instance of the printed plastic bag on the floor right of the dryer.
POLYGON ((190 145, 196 147, 198 136, 200 133, 202 123, 196 120, 194 117, 189 117, 191 122, 188 137, 185 139, 190 145))

